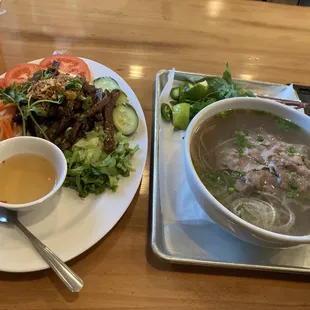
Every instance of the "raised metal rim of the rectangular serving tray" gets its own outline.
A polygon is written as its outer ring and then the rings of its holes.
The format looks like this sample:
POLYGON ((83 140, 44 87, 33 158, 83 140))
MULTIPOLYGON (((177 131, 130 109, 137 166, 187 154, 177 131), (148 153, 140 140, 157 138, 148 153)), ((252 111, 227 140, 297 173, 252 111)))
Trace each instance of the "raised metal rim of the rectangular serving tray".
MULTIPOLYGON (((157 109, 157 105, 159 102, 160 96, 160 80, 159 77, 164 74, 168 73, 170 70, 161 69, 156 73, 155 79, 155 102, 154 102, 154 118, 153 118, 153 158, 151 160, 153 164, 153 175, 152 175, 152 231, 151 231, 151 249, 153 253, 161 260, 167 263, 174 263, 174 264, 184 264, 184 265, 199 265, 199 266, 206 266, 206 267, 221 267, 221 268, 230 268, 230 269, 242 269, 242 270, 262 270, 262 271, 273 271, 273 272, 286 272, 286 273, 300 273, 300 274, 309 274, 310 269, 302 268, 302 267, 284 267, 284 266, 267 266, 267 265, 251 265, 251 264, 242 264, 242 263, 228 263, 228 262, 218 262, 218 261, 210 261, 210 260, 199 260, 199 259, 191 259, 187 260, 181 257, 174 257, 171 255, 167 255, 162 252, 158 247, 158 233, 157 233, 157 212, 158 208, 156 205, 158 203, 158 194, 157 194, 157 185, 158 185, 158 148, 159 148, 159 135, 158 135, 158 114, 159 109, 157 109)), ((185 71, 176 71, 179 74, 188 74, 188 75, 196 75, 196 76, 204 76, 208 74, 202 73, 193 73, 193 72, 185 72, 185 71)), ((210 75, 209 75, 210 76, 210 75)), ((234 79, 235 81, 245 81, 240 79, 234 79)), ((254 81, 251 82, 263 83, 265 85, 279 85, 283 86, 284 84, 279 83, 270 83, 270 82, 261 82, 261 81, 254 81)))

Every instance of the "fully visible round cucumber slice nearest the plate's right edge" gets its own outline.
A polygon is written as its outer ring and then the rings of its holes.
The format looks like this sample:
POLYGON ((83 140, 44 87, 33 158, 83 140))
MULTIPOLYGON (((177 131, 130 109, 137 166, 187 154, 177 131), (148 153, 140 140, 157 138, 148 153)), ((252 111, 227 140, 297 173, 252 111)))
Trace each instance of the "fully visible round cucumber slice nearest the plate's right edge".
POLYGON ((139 118, 130 104, 121 104, 113 110, 113 123, 118 131, 129 136, 137 130, 139 118))

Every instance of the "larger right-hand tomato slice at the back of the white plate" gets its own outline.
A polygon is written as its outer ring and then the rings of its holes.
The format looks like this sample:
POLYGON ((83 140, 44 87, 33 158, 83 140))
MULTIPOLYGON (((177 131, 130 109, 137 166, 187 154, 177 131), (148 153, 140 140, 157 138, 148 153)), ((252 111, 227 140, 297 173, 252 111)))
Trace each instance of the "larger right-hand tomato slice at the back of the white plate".
POLYGON ((60 63, 59 71, 65 73, 71 73, 74 75, 84 76, 87 81, 90 81, 91 74, 87 63, 81 58, 71 56, 71 55, 52 55, 44 58, 40 62, 40 67, 47 68, 53 64, 56 60, 60 63))

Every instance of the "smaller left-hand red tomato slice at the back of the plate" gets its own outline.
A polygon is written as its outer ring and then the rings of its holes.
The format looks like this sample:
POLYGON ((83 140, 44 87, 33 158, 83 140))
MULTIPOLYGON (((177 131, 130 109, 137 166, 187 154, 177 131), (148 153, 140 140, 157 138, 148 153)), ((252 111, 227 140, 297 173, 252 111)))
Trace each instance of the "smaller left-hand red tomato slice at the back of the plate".
POLYGON ((6 86, 9 86, 16 82, 17 84, 23 84, 40 68, 35 64, 20 64, 10 69, 4 77, 6 86))

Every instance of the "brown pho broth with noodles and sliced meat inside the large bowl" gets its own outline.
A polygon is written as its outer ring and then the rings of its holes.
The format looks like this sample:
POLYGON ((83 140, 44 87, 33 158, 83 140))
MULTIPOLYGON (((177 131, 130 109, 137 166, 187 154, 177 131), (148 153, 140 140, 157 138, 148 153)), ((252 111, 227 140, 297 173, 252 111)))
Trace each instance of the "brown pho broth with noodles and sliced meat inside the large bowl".
POLYGON ((201 181, 227 209, 261 228, 310 233, 310 135, 255 110, 204 121, 191 157, 201 181))

